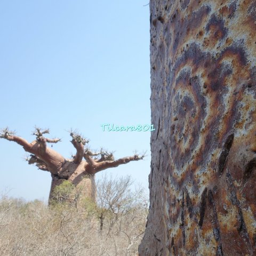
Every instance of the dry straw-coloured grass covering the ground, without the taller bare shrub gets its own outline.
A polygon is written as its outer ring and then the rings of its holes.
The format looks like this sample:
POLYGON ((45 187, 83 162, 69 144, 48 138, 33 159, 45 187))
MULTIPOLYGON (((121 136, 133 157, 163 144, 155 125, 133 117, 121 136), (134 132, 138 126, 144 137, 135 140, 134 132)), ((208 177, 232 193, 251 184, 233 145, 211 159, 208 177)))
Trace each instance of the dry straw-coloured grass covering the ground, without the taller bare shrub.
POLYGON ((139 201, 120 214, 105 214, 92 203, 77 211, 70 205, 48 207, 41 201, 3 197, 0 201, 0 255, 137 255, 147 209, 139 201))

